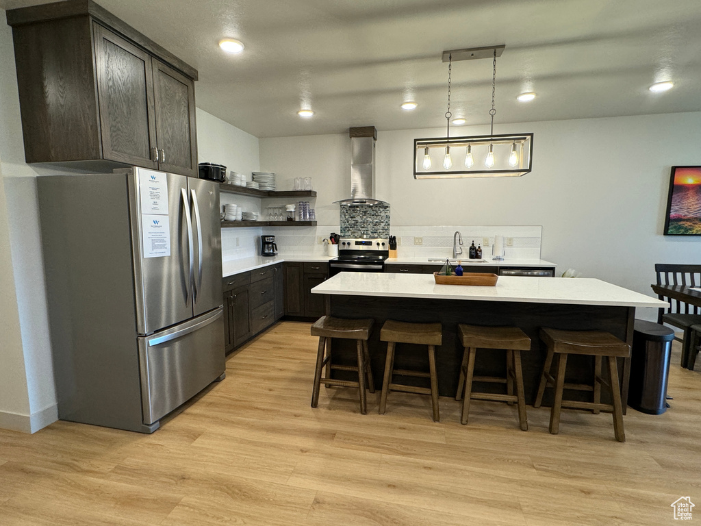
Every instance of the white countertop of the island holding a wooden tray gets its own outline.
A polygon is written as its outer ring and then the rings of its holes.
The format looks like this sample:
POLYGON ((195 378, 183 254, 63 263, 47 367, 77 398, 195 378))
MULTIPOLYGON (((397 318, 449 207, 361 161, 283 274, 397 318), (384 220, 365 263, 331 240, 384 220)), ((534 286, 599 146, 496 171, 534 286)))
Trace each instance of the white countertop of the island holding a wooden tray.
POLYGON ((431 274, 341 272, 311 290, 346 296, 660 307, 667 303, 595 278, 500 276, 496 287, 436 285, 431 274))

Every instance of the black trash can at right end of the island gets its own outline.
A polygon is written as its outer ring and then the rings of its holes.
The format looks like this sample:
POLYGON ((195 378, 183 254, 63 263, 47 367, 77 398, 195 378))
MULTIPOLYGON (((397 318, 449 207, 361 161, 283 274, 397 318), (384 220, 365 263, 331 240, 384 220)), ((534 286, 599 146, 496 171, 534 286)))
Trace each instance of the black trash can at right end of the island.
POLYGON ((674 330, 636 320, 630 353, 628 405, 647 414, 667 410, 667 379, 674 330))

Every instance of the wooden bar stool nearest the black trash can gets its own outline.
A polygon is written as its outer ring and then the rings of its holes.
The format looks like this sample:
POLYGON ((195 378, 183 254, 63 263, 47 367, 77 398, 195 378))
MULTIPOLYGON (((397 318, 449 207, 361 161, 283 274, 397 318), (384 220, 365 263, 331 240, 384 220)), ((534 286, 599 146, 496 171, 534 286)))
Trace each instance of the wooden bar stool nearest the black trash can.
POLYGON ((560 425, 560 410, 562 407, 571 409, 592 410, 597 414, 599 410, 611 411, 613 413, 613 433, 619 442, 625 442, 625 431, 623 429, 623 410, 620 400, 620 385, 618 384, 618 365, 616 358, 627 358, 630 355, 630 346, 622 342, 617 337, 608 332, 580 331, 580 330, 557 330, 549 328, 540 329, 540 339, 547 345, 547 356, 543 365, 543 375, 540 377, 538 385, 538 396, 533 407, 540 407, 543 403, 543 393, 545 387, 552 386, 555 389, 554 402, 550 410, 550 433, 557 435, 560 425), (552 358, 557 354, 557 372, 553 377, 550 374, 552 358), (588 384, 567 384, 565 383, 565 370, 567 367, 567 355, 580 354, 594 356, 594 382, 588 384), (611 382, 605 382, 601 378, 601 359, 606 358, 608 362, 608 374, 611 382), (613 405, 601 403, 601 385, 606 386, 611 391, 613 405), (563 400, 562 391, 572 389, 576 391, 592 391, 594 401, 580 402, 579 400, 563 400))

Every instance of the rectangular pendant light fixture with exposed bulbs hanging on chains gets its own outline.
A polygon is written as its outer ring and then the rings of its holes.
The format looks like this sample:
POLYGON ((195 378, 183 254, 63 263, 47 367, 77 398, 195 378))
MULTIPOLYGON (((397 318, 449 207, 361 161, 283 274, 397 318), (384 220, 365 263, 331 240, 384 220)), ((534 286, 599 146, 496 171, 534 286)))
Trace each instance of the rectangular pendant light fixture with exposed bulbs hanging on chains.
POLYGON ((513 177, 531 171, 533 156, 533 133, 519 135, 494 135, 494 116, 496 115, 496 59, 501 56, 505 46, 486 48, 468 48, 443 52, 443 62, 448 62, 448 104, 445 118, 447 131, 445 137, 414 140, 414 178, 440 179, 451 177, 513 177), (491 109, 489 116, 491 126, 489 135, 470 137, 451 137, 451 82, 453 62, 458 60, 492 59, 491 109), (430 150, 440 148, 443 153, 442 170, 433 168, 430 150), (464 152, 464 156, 463 153, 464 152), (463 163, 453 164, 453 157, 464 159, 463 163), (475 157, 481 161, 475 162, 475 157))

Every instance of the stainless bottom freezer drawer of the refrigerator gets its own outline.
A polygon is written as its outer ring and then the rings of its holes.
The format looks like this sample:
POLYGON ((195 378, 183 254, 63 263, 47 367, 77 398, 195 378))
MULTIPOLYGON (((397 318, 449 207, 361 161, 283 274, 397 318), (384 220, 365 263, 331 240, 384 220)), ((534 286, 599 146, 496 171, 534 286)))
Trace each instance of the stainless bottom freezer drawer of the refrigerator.
POLYGON ((139 337, 144 424, 153 424, 224 373, 222 308, 139 337))

